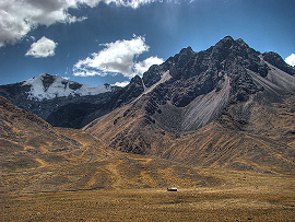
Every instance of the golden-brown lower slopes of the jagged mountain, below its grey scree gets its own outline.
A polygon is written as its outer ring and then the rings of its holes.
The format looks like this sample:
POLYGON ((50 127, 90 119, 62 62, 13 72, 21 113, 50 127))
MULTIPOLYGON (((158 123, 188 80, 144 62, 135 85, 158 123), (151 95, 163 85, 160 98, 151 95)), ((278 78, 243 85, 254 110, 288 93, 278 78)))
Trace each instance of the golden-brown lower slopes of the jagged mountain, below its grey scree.
POLYGON ((107 147, 123 152, 156 155, 194 166, 293 174, 295 96, 287 94, 281 96, 280 103, 269 103, 263 94, 227 106, 214 121, 199 130, 169 132, 167 127, 177 128, 179 116, 189 106, 165 104, 158 106, 161 114, 149 116, 145 108, 149 95, 96 119, 84 130, 107 147))

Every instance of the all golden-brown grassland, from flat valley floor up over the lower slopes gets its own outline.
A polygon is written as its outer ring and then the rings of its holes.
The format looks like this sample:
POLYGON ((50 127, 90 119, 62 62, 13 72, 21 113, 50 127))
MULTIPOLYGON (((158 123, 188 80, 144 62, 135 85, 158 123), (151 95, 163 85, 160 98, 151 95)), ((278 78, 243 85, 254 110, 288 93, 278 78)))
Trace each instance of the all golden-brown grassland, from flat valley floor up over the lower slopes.
MULTIPOLYGON (((122 119, 117 120, 120 129, 109 129, 102 143, 87 132, 54 128, 28 112, 4 105, 1 221, 295 220, 293 133, 282 147, 272 137, 212 124, 176 138, 160 129, 152 131, 155 128, 146 128, 151 125, 144 125, 142 116, 137 122, 129 113, 132 121, 123 128, 122 119), (144 137, 152 152, 135 155, 106 149, 109 141, 120 142, 111 139, 114 130, 137 132, 130 133, 127 143, 137 138, 134 144, 144 148, 140 140, 144 137), (196 162, 206 167, 196 167, 196 162), (235 162, 241 164, 237 170, 247 171, 229 171, 235 162), (179 191, 167 192, 167 187, 179 191)), ((114 122, 114 116, 104 117, 109 119, 97 133, 114 122)), ((288 116, 280 122, 293 126, 293 119, 288 116)))

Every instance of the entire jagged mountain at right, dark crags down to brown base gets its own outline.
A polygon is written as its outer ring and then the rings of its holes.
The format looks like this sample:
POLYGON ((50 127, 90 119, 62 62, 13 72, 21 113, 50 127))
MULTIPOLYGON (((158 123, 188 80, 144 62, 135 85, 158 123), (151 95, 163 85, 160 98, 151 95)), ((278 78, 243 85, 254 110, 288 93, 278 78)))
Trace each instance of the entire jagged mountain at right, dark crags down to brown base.
POLYGON ((294 68, 278 54, 227 36, 204 51, 182 49, 142 80, 152 90, 84 130, 125 152, 294 173, 294 68))

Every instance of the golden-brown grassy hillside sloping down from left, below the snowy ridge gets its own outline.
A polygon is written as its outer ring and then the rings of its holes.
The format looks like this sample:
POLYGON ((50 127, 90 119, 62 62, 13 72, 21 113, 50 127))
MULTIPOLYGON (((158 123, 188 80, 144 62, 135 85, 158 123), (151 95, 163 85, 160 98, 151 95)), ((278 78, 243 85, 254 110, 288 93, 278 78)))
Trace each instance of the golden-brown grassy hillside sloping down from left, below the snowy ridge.
POLYGON ((107 150, 85 131, 51 127, 0 100, 1 192, 212 187, 221 183, 179 163, 107 150))

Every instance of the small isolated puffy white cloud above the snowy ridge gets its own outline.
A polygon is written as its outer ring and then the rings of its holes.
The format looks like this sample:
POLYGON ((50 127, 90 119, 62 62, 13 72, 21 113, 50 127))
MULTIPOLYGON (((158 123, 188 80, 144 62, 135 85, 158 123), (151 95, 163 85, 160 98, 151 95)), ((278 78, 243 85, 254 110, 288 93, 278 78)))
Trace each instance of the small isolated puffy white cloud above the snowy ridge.
POLYGON ((57 45, 58 44, 54 40, 43 36, 39 40, 31 45, 31 48, 25 54, 25 56, 33 56, 35 58, 55 56, 55 49, 57 45))

